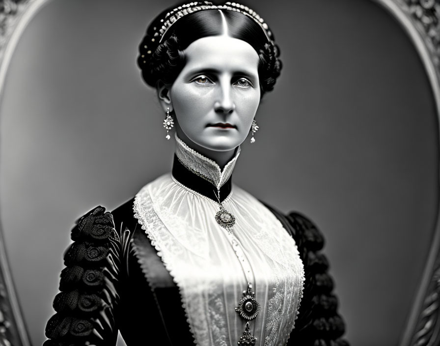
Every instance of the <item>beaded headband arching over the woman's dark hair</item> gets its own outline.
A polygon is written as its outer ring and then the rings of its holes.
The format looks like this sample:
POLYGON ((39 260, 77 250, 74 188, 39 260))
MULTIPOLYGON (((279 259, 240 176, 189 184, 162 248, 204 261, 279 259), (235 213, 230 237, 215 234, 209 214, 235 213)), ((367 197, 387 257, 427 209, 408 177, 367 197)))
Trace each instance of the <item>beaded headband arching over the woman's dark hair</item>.
MULTIPOLYGON (((214 5, 210 1, 203 2, 190 2, 183 4, 174 8, 173 10, 167 12, 165 17, 162 18, 159 22, 156 22, 156 26, 154 26, 153 32, 149 33, 151 38, 150 43, 144 42, 143 48, 146 50, 146 54, 153 54, 156 48, 164 39, 166 32, 182 17, 185 17, 188 14, 193 12, 202 11, 202 10, 227 10, 227 11, 235 11, 242 13, 250 18, 252 18, 264 31, 269 42, 274 41, 274 36, 269 29, 268 25, 264 22, 263 18, 261 18, 255 11, 250 9, 247 6, 241 5, 237 2, 225 2, 223 5, 214 5)), ((144 56, 142 56, 144 58, 144 56)), ((143 61, 144 63, 146 61, 143 61)))

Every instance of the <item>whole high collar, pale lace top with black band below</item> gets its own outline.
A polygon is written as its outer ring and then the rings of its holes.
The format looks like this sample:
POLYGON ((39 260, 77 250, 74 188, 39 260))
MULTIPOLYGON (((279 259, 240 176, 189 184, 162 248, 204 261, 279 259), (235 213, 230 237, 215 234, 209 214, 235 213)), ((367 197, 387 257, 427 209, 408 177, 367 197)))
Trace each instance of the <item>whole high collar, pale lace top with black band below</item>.
POLYGON ((190 148, 177 135, 175 139, 173 177, 179 183, 214 201, 219 200, 220 194, 220 202, 222 202, 231 192, 232 172, 240 155, 240 147, 221 170, 217 162, 190 148))

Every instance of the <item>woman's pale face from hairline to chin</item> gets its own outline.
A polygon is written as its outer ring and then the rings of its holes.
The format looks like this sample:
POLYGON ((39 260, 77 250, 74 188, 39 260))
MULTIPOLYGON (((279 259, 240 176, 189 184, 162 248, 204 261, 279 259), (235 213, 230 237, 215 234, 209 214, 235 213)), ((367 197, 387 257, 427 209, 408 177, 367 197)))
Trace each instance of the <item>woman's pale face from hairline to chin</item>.
POLYGON ((193 148, 235 149, 246 139, 260 102, 256 51, 219 35, 192 42, 185 56, 169 92, 178 136, 193 148))

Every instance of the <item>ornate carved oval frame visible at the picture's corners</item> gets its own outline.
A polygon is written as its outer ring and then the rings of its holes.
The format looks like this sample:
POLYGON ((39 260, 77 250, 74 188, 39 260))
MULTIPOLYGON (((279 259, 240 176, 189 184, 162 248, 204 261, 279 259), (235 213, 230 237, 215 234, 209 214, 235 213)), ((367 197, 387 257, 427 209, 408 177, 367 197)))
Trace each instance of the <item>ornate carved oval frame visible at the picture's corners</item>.
MULTIPOLYGON (((413 41, 431 83, 440 123, 440 0, 372 1, 383 6, 413 41)), ((0 0, 0 100, 17 42, 33 16, 49 2, 50 0, 0 0)), ((440 129, 438 131, 440 133, 440 129)), ((422 280, 399 346, 440 345, 439 216, 440 213, 437 215, 422 280)), ((1 225, 0 345, 30 346, 10 274, 1 225)))

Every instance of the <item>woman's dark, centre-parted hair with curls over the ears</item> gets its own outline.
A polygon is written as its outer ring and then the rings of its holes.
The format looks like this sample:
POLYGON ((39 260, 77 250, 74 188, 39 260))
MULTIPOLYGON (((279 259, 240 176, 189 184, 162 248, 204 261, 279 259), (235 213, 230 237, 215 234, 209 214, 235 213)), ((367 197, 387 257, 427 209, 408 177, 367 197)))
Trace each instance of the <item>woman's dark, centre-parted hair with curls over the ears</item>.
MULTIPOLYGON (((138 66, 145 83, 155 87, 158 81, 171 85, 185 65, 184 50, 195 40, 220 35, 223 32, 222 17, 217 9, 193 12, 180 18, 152 51, 151 41, 156 27, 164 14, 162 12, 149 25, 147 34, 139 45, 138 66), (147 57, 150 57, 149 59, 147 57)), ((252 18, 240 12, 222 10, 228 26, 228 34, 249 43, 259 56, 258 76, 261 96, 274 88, 280 74, 279 49, 268 40, 264 30, 252 18)), ((153 46, 154 47, 154 46, 153 46)))

